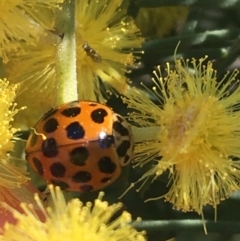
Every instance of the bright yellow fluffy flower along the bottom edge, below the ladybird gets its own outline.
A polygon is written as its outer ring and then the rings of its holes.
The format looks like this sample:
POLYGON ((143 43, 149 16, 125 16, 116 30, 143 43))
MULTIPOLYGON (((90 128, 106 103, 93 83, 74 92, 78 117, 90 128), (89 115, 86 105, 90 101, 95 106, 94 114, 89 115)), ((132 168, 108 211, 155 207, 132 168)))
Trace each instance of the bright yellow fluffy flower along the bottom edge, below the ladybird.
POLYGON ((6 224, 2 240, 21 241, 144 241, 144 232, 136 231, 131 225, 131 215, 123 212, 116 218, 113 215, 121 204, 108 205, 102 201, 100 193, 94 204, 84 205, 78 199, 66 203, 59 187, 49 186, 53 200, 52 208, 44 208, 36 196, 39 208, 46 221, 41 221, 31 205, 22 204, 25 214, 10 208, 17 224, 6 224))

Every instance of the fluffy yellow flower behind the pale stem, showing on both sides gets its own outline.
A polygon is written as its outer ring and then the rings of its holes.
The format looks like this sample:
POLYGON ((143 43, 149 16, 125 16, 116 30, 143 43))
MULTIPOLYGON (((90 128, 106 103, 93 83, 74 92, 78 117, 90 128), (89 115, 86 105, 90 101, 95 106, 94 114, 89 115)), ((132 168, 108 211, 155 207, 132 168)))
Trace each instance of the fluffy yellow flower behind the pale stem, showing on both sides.
MULTIPOLYGON (((136 57, 133 53, 140 52, 143 38, 133 19, 126 14, 126 6, 121 4, 121 0, 76 0, 79 99, 103 101, 100 82, 111 92, 117 90, 123 93, 128 88, 124 75, 127 68, 135 64, 136 57)), ((56 33, 61 36, 60 30, 56 29, 56 33)), ((39 42, 36 46, 23 47, 22 53, 13 53, 10 56, 10 63, 6 68, 9 81, 21 82, 22 89, 27 90, 28 95, 23 93, 19 99, 21 104, 30 104, 32 116, 36 105, 47 110, 56 104, 56 46, 39 42), (32 104, 35 106, 31 106, 32 104)))

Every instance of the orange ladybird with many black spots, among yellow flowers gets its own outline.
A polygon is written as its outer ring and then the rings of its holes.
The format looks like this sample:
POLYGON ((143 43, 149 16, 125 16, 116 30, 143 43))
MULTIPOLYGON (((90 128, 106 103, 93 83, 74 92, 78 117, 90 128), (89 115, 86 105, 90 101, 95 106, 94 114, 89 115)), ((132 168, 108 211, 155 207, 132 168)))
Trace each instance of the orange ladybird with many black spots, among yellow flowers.
POLYGON ((44 180, 68 191, 108 186, 133 155, 127 121, 97 102, 72 101, 52 108, 33 130, 26 144, 29 165, 44 180))

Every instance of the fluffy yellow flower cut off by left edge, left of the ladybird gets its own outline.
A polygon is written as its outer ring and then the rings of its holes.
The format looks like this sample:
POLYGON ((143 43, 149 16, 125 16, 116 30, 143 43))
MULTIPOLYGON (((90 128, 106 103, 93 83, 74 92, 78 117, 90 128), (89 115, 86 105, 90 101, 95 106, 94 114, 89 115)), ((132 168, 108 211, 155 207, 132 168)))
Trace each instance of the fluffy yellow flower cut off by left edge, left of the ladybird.
POLYGON ((18 113, 14 99, 18 85, 10 85, 0 79, 0 200, 7 198, 6 189, 18 188, 27 178, 22 170, 11 162, 10 152, 13 151, 13 135, 18 129, 12 127, 13 117, 18 113))

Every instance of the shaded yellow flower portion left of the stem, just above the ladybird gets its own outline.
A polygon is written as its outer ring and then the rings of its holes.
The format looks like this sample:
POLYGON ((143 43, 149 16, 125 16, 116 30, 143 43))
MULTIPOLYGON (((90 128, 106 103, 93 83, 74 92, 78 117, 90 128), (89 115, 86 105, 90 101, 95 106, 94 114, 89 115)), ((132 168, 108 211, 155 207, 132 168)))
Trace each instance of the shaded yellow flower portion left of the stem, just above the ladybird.
POLYGON ((23 46, 25 51, 12 57, 6 70, 11 83, 21 82, 21 92, 16 102, 20 106, 28 106, 16 116, 14 124, 28 129, 35 125, 42 113, 56 104, 56 48, 45 43, 23 46))

